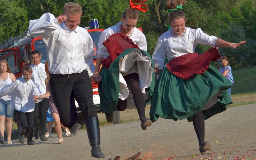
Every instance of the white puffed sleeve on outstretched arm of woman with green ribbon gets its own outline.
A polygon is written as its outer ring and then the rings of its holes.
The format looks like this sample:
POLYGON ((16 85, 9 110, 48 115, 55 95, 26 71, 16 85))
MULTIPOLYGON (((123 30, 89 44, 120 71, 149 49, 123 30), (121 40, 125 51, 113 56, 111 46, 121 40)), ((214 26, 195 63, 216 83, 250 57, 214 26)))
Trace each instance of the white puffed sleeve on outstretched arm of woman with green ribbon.
POLYGON ((196 29, 195 40, 199 44, 206 44, 211 47, 215 47, 217 39, 218 38, 216 36, 209 36, 204 33, 201 28, 196 29))

